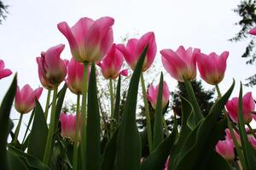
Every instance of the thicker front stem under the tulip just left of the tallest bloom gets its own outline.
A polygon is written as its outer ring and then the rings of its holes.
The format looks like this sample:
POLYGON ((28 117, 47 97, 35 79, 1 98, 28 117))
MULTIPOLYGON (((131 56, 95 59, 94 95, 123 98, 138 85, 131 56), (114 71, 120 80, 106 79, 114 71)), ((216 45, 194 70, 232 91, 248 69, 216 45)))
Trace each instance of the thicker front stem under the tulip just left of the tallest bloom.
POLYGON ((44 150, 43 162, 46 165, 49 164, 49 156, 50 156, 50 152, 51 152, 51 145, 53 143, 52 139, 53 139, 54 130, 55 130, 55 108, 56 108, 57 94, 58 94, 58 84, 55 84, 55 86, 54 86, 54 96, 53 96, 53 99, 52 99, 52 105, 51 105, 51 111, 50 111, 49 131, 48 131, 47 141, 46 141, 45 150, 44 150))

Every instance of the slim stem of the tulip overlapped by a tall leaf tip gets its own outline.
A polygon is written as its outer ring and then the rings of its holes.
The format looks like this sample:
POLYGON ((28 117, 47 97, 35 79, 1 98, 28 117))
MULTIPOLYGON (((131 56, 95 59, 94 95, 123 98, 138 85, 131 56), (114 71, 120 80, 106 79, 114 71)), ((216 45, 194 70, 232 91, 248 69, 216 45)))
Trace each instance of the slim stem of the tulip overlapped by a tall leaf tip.
POLYGON ((152 145, 152 128, 151 128, 147 92, 146 92, 146 87, 145 87, 145 81, 144 81, 144 78, 143 78, 143 73, 141 75, 141 83, 142 83, 142 88, 143 88, 143 100, 144 100, 144 105, 145 105, 145 115, 146 115, 146 122, 147 122, 148 147, 149 147, 149 153, 151 153, 152 146, 153 146, 152 145))

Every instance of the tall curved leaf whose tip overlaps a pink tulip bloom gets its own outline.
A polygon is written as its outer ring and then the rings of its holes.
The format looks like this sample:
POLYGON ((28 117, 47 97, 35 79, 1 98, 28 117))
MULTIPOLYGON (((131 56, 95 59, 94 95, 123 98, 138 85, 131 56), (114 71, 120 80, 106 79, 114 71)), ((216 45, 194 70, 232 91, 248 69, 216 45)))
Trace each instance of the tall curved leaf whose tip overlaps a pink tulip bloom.
POLYGON ((117 137, 117 169, 137 170, 140 168, 141 141, 136 123, 136 106, 138 84, 143 69, 143 63, 148 50, 148 45, 138 59, 132 74, 122 121, 117 137))

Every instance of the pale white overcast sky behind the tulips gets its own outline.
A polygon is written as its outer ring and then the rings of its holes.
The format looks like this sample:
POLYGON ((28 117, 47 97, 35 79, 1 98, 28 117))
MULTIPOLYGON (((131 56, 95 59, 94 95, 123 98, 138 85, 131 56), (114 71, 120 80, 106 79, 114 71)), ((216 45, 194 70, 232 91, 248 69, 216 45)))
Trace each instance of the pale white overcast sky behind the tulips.
MULTIPOLYGON (((9 5, 9 14, 0 26, 0 59, 5 61, 7 68, 18 72, 20 87, 26 83, 32 88, 40 86, 36 57, 41 51, 65 43, 62 59, 71 58, 67 39, 56 25, 65 20, 69 26, 73 26, 84 16, 94 20, 101 16, 113 17, 114 41, 117 43, 126 33, 143 35, 147 31, 154 31, 158 47, 155 59, 160 59, 161 49, 176 50, 180 45, 201 48, 205 54, 220 54, 228 50, 230 56, 220 89, 224 93, 234 77, 236 88, 232 97, 238 95, 239 81, 256 72, 255 65, 246 65, 247 59, 241 59, 247 42, 228 41, 240 29, 235 26, 239 17, 232 11, 240 3, 238 0, 3 0, 3 3, 9 5)), ((165 71, 161 65, 159 71, 165 71)), ((12 78, 0 81, 0 101, 12 78)), ((169 75, 165 79, 170 90, 174 90, 176 81, 169 75)), ((204 85, 213 88, 206 83, 204 85)), ((244 88, 244 93, 247 91, 253 91, 256 95, 253 88, 244 88)), ((46 94, 44 90, 40 99, 42 104, 46 94)), ((19 115, 13 112, 12 118, 17 118, 19 115)), ((25 116, 25 120, 27 118, 25 116)))

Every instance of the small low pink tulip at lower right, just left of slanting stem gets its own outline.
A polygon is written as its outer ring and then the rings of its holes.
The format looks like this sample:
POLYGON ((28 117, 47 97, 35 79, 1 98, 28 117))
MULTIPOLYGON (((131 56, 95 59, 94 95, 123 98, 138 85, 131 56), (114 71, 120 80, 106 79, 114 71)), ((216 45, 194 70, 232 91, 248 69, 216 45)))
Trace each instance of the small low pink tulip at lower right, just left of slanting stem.
POLYGON ((220 156, 223 156, 227 161, 233 161, 235 158, 234 143, 232 140, 219 140, 215 146, 216 151, 220 156))

